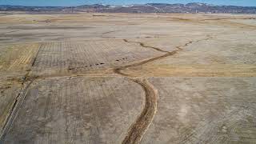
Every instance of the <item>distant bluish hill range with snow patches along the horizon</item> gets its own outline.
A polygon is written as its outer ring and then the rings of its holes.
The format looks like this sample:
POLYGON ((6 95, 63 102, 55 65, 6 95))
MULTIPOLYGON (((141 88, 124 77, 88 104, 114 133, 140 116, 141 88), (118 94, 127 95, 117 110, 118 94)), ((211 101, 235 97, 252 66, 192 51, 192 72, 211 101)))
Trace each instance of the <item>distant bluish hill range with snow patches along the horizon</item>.
POLYGON ((232 13, 256 14, 256 6, 216 6, 206 3, 167 4, 147 3, 140 5, 84 5, 84 6, 0 6, 0 11, 28 12, 94 12, 94 13, 232 13))

